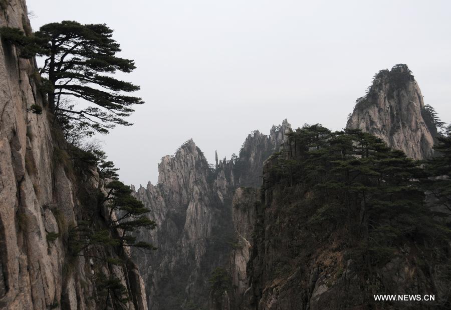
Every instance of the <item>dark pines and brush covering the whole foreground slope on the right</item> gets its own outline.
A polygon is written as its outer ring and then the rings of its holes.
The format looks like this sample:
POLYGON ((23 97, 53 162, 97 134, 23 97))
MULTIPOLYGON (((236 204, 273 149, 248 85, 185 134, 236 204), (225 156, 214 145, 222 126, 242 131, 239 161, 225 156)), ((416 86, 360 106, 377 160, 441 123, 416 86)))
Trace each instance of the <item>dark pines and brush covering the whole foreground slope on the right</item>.
POLYGON ((322 299, 329 306, 374 303, 372 294, 398 289, 435 292, 448 304, 443 291, 451 281, 451 230, 445 210, 432 212, 425 198, 429 188, 449 202, 448 179, 429 177, 433 167, 432 174, 449 174, 449 137, 436 150, 442 157, 424 169, 358 129, 332 132, 315 124, 289 133, 287 147, 272 156, 264 175, 250 262, 254 287, 264 291, 300 272, 284 294, 291 296, 290 306, 301 307, 311 298, 309 276, 319 270, 335 294, 322 299), (390 269, 398 263, 410 278, 390 269))

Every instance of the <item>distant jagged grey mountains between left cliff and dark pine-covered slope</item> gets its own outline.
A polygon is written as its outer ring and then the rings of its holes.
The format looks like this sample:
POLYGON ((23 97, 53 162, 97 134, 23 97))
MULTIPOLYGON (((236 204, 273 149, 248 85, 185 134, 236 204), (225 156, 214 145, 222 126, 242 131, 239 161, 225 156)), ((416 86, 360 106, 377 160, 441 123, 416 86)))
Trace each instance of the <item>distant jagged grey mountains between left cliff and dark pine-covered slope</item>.
MULTIPOLYGON (((254 131, 240 155, 210 166, 192 140, 158 165, 158 184, 139 187, 135 196, 151 209, 155 231, 139 237, 158 247, 149 255, 134 251, 151 309, 236 308, 248 288, 246 265, 252 246, 255 189, 263 161, 279 149, 287 120, 269 135, 254 131), (231 274, 227 287, 210 290, 216 268, 231 274), (217 295, 219 293, 219 297, 217 295)), ((216 156, 217 157, 217 156, 216 156)))

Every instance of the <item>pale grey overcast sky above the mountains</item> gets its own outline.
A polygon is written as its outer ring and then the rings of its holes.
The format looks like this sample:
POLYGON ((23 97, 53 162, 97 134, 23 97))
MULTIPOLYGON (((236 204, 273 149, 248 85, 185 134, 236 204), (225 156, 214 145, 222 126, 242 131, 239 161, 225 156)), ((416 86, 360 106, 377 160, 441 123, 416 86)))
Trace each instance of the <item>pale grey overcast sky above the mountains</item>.
POLYGON ((407 63, 426 104, 451 121, 448 0, 27 0, 32 26, 77 20, 115 29, 121 78, 146 101, 134 125, 101 136, 125 183, 192 137, 210 162, 267 133, 320 122, 340 129, 378 70, 407 63))

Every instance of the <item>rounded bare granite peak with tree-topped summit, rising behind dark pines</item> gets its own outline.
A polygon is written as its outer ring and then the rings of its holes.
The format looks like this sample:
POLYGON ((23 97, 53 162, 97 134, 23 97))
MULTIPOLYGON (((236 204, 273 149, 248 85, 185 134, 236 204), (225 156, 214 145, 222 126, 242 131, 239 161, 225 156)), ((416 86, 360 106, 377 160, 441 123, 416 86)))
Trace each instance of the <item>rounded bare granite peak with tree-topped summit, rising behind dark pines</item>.
POLYGON ((360 128, 414 159, 432 155, 437 135, 424 109, 421 90, 406 65, 379 71, 364 97, 357 99, 347 128, 360 128))

